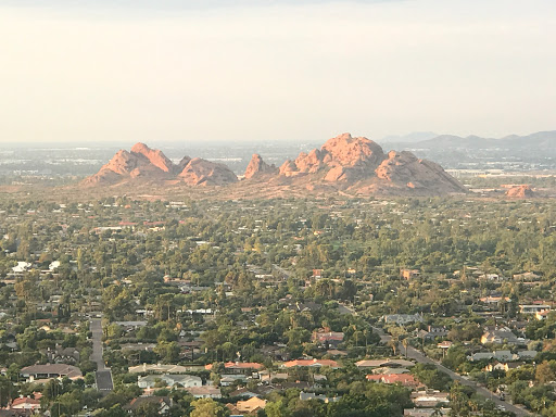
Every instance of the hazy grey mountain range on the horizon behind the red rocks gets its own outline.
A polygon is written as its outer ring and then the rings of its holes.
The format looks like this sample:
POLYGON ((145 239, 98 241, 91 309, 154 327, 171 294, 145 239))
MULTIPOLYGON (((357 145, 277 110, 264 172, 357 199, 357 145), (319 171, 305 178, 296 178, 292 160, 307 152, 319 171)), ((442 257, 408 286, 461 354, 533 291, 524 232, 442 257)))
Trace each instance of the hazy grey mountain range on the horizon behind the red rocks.
POLYGON ((387 142, 389 144, 395 144, 399 149, 535 149, 538 151, 547 150, 552 152, 556 150, 556 130, 539 131, 528 136, 510 135, 501 139, 481 138, 479 136, 463 138, 453 135, 440 135, 425 140, 403 140, 403 138, 404 137, 401 137, 399 141, 387 140, 387 142))

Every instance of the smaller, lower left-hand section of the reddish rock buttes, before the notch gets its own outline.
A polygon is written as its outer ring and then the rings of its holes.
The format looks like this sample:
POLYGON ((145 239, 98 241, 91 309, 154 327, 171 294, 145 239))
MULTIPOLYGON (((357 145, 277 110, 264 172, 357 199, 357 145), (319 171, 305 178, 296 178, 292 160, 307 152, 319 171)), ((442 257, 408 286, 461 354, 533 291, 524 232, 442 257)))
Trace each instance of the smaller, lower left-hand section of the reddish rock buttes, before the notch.
POLYGON ((223 185, 236 181, 237 177, 225 165, 201 159, 184 156, 176 165, 162 151, 136 143, 130 152, 118 151, 97 174, 86 178, 83 185, 114 185, 129 179, 180 179, 191 185, 223 185))

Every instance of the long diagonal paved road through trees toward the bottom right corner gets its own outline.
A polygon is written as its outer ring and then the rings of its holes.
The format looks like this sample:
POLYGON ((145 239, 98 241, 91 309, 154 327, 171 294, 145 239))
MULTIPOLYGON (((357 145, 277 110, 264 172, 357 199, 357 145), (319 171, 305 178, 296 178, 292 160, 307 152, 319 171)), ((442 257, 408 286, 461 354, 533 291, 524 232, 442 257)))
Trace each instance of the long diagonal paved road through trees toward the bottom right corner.
MULTIPOLYGON (((382 343, 388 343, 392 337, 390 334, 386 334, 382 329, 374 327, 372 331, 377 332, 378 336, 380 336, 380 341, 382 343)), ((405 348, 400 344, 399 346, 400 352, 405 352, 405 348)), ((496 406, 503 406, 506 408, 506 410, 514 413, 517 417, 532 417, 533 414, 529 413, 528 410, 521 408, 518 405, 513 405, 509 403, 506 403, 505 401, 501 401, 496 394, 494 394, 492 391, 485 389, 484 387, 480 387, 475 381, 470 381, 469 379, 466 379, 462 377, 459 374, 454 372, 453 370, 446 368, 442 364, 432 361, 430 357, 425 356, 420 351, 416 350, 415 348, 407 346, 407 357, 410 359, 414 359, 421 364, 430 364, 434 365, 437 369, 446 372, 450 375, 450 377, 462 383, 463 386, 471 387, 473 388, 479 394, 484 396, 485 399, 490 399, 496 404, 496 406)))

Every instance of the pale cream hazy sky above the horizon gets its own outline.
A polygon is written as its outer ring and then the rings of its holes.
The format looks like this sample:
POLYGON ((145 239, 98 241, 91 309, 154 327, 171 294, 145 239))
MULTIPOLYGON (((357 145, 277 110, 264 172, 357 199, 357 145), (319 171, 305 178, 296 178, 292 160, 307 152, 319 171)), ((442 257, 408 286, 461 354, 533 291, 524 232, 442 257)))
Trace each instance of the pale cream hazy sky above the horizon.
POLYGON ((556 129, 556 1, 0 1, 0 141, 556 129))

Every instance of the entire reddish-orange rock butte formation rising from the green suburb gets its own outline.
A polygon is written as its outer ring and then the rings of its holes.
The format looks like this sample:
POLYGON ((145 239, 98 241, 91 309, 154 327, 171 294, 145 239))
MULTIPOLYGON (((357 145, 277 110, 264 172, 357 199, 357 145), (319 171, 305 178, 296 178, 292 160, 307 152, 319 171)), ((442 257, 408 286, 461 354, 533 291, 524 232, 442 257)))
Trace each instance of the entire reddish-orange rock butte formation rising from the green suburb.
POLYGON ((218 186, 223 195, 279 195, 293 193, 350 195, 443 195, 466 189, 440 165, 410 152, 390 151, 363 137, 343 134, 319 149, 300 153, 279 168, 254 154, 239 181, 226 165, 185 156, 174 164, 160 150, 143 143, 130 152, 118 151, 97 174, 86 178, 86 187, 141 186, 155 182, 159 189, 186 185, 218 186))

